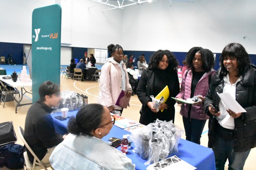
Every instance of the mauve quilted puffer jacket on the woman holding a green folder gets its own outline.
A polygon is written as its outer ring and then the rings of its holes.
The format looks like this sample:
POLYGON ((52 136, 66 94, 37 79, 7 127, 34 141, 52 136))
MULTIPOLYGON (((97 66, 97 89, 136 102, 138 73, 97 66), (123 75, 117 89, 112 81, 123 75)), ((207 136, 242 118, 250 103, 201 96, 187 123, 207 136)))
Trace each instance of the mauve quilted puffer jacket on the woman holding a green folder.
MULTIPOLYGON (((209 88, 209 76, 213 77, 215 74, 215 70, 211 70, 201 77, 199 82, 197 83, 196 89, 194 91, 194 96, 201 94, 202 96, 206 96, 209 88)), ((182 99, 190 98, 191 94, 191 83, 192 83, 192 71, 189 70, 186 77, 186 72, 183 74, 182 83, 180 93, 176 96, 182 99)), ((184 117, 188 117, 188 110, 190 108, 190 104, 183 103, 180 109, 180 115, 184 117)), ((209 116, 204 113, 204 104, 201 105, 192 105, 190 111, 190 118, 206 120, 209 119, 209 116)))

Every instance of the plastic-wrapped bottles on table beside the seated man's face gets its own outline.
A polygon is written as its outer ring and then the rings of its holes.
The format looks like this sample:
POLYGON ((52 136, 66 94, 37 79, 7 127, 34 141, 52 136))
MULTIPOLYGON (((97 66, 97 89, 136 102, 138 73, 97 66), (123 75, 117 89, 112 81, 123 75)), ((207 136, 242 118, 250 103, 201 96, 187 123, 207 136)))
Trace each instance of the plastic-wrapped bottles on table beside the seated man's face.
POLYGON ((61 112, 62 108, 76 110, 83 106, 83 96, 74 91, 62 91, 61 97, 62 100, 59 102, 59 107, 55 107, 53 113, 61 112))

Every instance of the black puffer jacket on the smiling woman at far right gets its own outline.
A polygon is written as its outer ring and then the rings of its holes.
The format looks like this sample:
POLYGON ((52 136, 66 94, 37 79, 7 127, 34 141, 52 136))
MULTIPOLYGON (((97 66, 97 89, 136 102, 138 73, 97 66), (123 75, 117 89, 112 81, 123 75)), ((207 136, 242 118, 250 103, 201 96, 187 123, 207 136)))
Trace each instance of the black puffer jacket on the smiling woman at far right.
MULTIPOLYGON (((244 152, 249 148, 256 147, 256 67, 250 64, 245 70, 236 85, 236 101, 247 111, 242 113, 235 121, 235 147, 234 151, 244 152)), ((221 68, 211 80, 209 91, 204 100, 205 113, 210 116, 208 147, 212 147, 214 142, 214 131, 216 129, 217 119, 209 112, 208 103, 218 108, 220 97, 218 93, 223 92, 224 81, 220 77, 221 68)), ((232 108, 230 108, 232 110, 232 108)))

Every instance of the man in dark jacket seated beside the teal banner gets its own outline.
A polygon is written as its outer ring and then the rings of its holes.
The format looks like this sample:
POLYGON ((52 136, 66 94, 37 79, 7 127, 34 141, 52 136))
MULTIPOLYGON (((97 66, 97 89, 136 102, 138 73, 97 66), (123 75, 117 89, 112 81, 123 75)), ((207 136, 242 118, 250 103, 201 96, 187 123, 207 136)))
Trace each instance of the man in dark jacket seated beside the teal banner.
MULTIPOLYGON (((40 99, 28 109, 25 120, 24 138, 36 156, 43 162, 49 163, 53 149, 63 141, 65 136, 55 132, 50 113, 52 106, 59 106, 61 100, 59 85, 45 81, 39 87, 40 99)), ((28 159, 33 162, 33 156, 28 151, 28 159)))

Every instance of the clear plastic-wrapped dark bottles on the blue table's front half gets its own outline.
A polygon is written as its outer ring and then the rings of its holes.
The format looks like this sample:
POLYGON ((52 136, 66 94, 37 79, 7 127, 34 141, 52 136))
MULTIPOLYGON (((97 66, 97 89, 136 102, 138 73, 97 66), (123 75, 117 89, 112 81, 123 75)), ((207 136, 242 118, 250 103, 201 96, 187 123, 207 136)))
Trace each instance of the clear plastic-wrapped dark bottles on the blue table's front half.
POLYGON ((133 152, 142 159, 147 159, 145 165, 164 160, 169 154, 178 153, 178 144, 183 133, 172 121, 156 120, 131 134, 135 145, 133 152))

